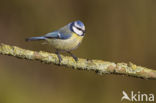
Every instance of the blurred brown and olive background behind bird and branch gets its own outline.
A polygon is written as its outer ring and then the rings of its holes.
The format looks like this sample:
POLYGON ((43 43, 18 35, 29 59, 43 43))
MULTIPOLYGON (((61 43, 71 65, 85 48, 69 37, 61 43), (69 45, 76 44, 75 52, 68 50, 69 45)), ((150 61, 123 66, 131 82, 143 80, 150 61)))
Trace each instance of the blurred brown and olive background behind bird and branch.
MULTIPOLYGON (((0 43, 53 52, 25 38, 79 19, 87 32, 76 56, 155 69, 155 10, 155 0, 0 0, 0 43)), ((0 103, 120 103, 122 90, 156 95, 156 81, 0 55, 0 103)))

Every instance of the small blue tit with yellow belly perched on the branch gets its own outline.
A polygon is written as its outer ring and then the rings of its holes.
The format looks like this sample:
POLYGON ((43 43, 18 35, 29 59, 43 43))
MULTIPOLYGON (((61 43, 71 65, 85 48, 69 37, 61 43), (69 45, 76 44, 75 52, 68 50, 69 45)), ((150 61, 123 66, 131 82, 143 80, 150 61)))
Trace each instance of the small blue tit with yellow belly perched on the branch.
POLYGON ((60 51, 66 51, 73 57, 75 61, 78 61, 78 58, 74 56, 71 51, 79 46, 79 44, 83 40, 84 35, 85 25, 83 24, 83 22, 78 20, 71 22, 54 32, 47 33, 44 36, 27 38, 26 41, 46 41, 56 49, 59 63, 61 63, 62 58, 60 56, 60 51))

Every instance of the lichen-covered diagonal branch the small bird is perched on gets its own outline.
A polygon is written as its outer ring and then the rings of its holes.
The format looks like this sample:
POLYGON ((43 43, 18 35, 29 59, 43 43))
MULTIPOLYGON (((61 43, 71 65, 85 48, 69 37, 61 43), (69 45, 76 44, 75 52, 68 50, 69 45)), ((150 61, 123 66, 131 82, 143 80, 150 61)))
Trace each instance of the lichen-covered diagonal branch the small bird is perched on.
MULTIPOLYGON (((10 55, 21 59, 37 60, 43 63, 53 63, 58 65, 59 60, 56 54, 47 52, 36 52, 19 48, 17 46, 10 46, 6 44, 0 44, 0 54, 10 55)), ((95 71, 99 74, 121 74, 128 75, 143 79, 156 79, 156 70, 148 69, 145 67, 137 66, 133 63, 113 63, 102 60, 87 60, 79 58, 78 62, 75 62, 72 57, 63 56, 60 66, 72 67, 74 69, 95 71)))

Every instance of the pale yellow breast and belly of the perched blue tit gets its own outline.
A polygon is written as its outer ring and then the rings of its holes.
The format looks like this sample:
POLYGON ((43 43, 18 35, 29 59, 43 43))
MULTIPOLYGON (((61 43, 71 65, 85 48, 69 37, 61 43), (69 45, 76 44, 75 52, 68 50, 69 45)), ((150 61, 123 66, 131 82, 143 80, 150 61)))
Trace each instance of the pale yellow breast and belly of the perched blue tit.
POLYGON ((81 43, 83 36, 73 33, 69 39, 47 39, 48 43, 59 50, 71 51, 81 43))

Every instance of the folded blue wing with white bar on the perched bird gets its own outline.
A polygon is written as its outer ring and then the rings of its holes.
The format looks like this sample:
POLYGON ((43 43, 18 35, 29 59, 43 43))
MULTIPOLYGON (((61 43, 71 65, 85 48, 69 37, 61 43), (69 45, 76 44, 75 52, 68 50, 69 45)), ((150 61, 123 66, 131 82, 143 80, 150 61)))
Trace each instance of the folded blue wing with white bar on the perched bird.
POLYGON ((57 38, 57 39, 68 39, 71 37, 71 34, 69 33, 62 33, 59 31, 54 31, 46 34, 44 37, 46 38, 57 38))

